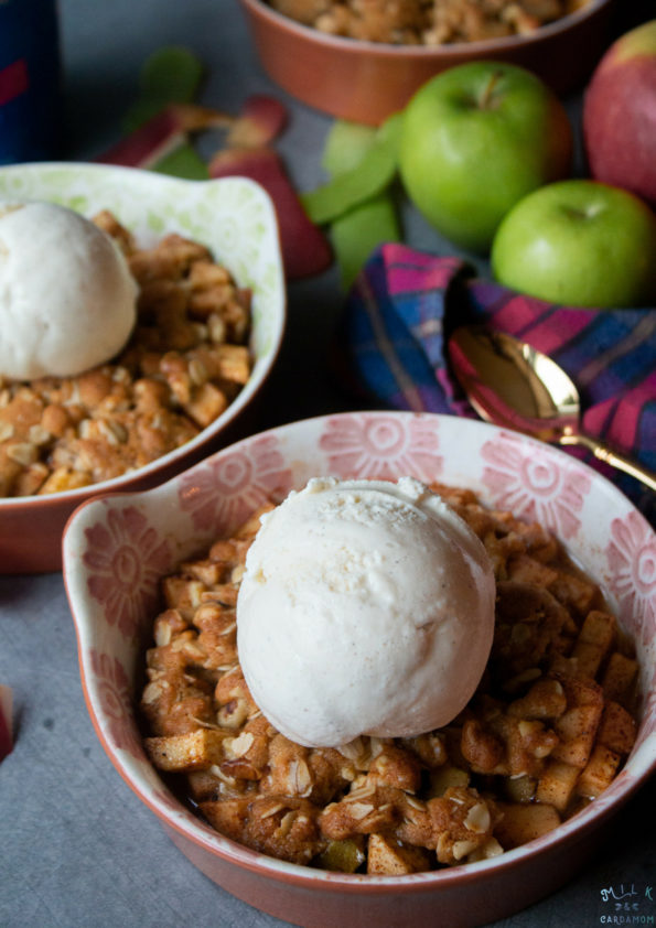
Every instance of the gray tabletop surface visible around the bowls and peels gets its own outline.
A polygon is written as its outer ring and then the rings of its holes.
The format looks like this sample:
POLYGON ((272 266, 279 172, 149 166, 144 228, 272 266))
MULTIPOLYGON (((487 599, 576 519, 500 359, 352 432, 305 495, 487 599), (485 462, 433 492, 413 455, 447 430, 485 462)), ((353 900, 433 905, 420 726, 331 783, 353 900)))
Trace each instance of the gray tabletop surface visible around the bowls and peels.
MULTIPOLYGON (((114 141, 141 62, 161 45, 179 43, 209 67, 206 102, 235 110, 258 90, 275 90, 289 102, 293 117, 281 149, 301 188, 319 180, 318 152, 330 121, 269 84, 232 0, 61 0, 61 17, 65 157, 92 158, 114 141)), ((417 216, 407 218, 412 245, 448 250, 417 216)), ((288 337, 260 425, 346 408, 323 364, 338 306, 332 271, 290 289, 288 337)), ((0 578, 0 682, 14 691, 17 723, 15 748, 0 764, 0 926, 282 925, 189 864, 115 771, 85 709, 62 578, 0 578)), ((656 903, 645 893, 654 887, 656 899, 655 798, 652 783, 579 876, 496 928, 584 928, 634 916, 654 924, 656 903), (637 911, 617 909, 612 896, 604 902, 602 891, 610 887, 616 895, 633 889, 637 895, 625 902, 637 903, 637 911)))

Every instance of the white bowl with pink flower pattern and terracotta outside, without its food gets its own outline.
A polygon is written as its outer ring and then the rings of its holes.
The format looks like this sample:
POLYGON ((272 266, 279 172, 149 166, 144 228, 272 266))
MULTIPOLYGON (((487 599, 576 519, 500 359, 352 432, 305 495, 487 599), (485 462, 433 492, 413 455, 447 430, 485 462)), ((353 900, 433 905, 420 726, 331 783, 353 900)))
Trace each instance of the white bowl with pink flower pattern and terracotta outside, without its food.
POLYGON ((85 698, 114 765, 204 874, 294 925, 341 928, 347 919, 352 928, 458 928, 508 916, 574 875, 599 843, 602 826, 656 767, 656 536, 605 478, 536 440, 430 413, 310 419, 233 444, 154 489, 83 504, 67 524, 63 557, 85 698), (325 474, 409 474, 469 486, 483 501, 551 528, 603 585, 636 643, 641 724, 625 768, 582 812, 490 861, 366 876, 257 854, 217 834, 169 791, 147 759, 136 721, 158 580, 229 532, 272 492, 325 474))

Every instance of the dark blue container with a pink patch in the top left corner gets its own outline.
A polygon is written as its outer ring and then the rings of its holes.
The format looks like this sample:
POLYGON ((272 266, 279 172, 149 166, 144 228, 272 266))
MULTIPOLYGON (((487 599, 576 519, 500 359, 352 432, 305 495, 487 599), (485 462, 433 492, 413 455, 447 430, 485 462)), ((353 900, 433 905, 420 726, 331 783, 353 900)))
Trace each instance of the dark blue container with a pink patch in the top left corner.
POLYGON ((0 164, 56 158, 61 125, 56 0, 0 0, 0 164))

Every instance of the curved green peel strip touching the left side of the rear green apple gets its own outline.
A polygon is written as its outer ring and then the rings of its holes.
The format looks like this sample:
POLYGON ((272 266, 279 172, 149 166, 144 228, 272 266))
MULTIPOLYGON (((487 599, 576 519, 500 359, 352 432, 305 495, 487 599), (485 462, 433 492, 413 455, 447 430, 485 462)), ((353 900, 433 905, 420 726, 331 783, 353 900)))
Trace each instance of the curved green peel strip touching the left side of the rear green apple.
POLYGON ((366 147, 354 166, 302 195, 303 206, 313 223, 330 223, 389 186, 397 173, 399 130, 400 116, 396 114, 377 130, 372 145, 366 147))

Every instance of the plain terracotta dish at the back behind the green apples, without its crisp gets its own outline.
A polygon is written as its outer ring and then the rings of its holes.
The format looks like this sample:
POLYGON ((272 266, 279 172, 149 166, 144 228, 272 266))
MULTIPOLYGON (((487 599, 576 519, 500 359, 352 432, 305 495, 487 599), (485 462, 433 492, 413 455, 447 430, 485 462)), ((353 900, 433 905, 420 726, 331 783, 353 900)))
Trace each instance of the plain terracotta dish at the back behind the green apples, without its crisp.
POLYGON ((558 94, 576 89, 604 47, 614 0, 590 0, 530 35, 432 48, 326 35, 264 0, 240 2, 262 66, 277 84, 331 116, 375 126, 402 109, 430 77, 470 61, 510 62, 534 71, 558 94))

